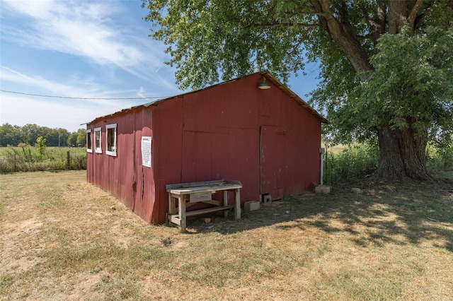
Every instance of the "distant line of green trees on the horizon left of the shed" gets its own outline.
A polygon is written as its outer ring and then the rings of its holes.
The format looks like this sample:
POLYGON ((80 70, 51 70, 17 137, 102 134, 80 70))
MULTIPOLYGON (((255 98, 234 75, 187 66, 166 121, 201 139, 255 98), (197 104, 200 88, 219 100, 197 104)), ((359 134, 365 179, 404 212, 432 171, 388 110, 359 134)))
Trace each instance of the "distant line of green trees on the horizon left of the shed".
POLYGON ((37 124, 0 126, 0 146, 34 146, 39 137, 46 139, 46 146, 85 146, 86 130, 69 132, 67 129, 50 129, 37 124))

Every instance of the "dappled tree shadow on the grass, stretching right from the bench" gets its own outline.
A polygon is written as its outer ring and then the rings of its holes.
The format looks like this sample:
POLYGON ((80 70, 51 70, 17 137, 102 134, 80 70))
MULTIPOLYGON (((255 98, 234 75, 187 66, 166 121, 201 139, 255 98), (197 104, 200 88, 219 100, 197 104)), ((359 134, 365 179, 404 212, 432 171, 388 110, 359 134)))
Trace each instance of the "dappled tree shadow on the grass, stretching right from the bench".
POLYGON ((205 224, 190 220, 189 231, 232 234, 264 226, 277 230, 318 228, 327 233, 345 233, 353 243, 419 244, 453 252, 453 181, 412 184, 380 184, 355 194, 347 185, 333 187, 331 194, 306 192, 259 211, 242 211, 241 220, 215 217, 205 224))

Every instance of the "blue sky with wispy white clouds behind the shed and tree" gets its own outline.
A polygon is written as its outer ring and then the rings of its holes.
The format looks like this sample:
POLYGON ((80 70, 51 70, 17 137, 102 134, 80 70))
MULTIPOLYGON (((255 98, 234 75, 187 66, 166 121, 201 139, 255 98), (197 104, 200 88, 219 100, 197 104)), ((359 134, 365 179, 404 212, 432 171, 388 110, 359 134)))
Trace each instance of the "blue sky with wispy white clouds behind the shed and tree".
MULTIPOLYGON (((178 90, 166 46, 152 40, 142 1, 0 0, 0 90, 79 98, 166 97, 178 90)), ((292 77, 304 99, 309 76, 292 77)), ((76 131, 80 124, 151 100, 74 100, 0 92, 0 124, 76 131)))

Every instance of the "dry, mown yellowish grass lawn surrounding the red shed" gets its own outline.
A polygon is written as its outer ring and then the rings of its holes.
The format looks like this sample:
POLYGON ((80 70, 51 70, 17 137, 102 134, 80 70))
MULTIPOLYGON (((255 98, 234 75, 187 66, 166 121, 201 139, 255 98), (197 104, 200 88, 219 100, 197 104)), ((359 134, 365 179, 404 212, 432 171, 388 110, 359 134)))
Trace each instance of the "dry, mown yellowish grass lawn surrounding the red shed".
POLYGON ((0 300, 453 300, 453 182, 145 224, 84 171, 0 175, 0 300))

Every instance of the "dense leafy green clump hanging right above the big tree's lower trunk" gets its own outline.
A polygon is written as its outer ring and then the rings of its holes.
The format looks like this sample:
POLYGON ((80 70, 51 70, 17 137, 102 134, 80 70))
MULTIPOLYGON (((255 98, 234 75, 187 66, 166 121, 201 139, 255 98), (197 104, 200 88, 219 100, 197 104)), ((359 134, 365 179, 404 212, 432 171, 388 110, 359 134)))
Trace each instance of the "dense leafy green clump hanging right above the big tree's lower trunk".
MULTIPOLYGON (((338 107, 338 117, 357 136, 389 124, 418 133, 453 126, 453 28, 428 27, 423 34, 383 35, 370 61, 374 71, 338 107), (404 59, 401 59, 404 58, 404 59)), ((366 136, 369 136, 367 134, 366 136)))

